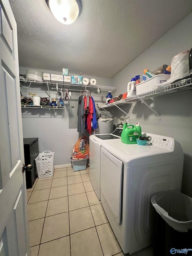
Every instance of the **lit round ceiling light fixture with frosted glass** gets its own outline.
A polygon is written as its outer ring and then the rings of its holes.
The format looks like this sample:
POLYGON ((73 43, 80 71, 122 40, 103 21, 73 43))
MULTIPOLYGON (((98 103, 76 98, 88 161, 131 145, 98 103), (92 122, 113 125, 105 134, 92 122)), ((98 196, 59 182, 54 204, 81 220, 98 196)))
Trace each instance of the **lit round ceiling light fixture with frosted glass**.
POLYGON ((63 24, 73 23, 82 8, 81 0, 46 0, 55 18, 63 24))

